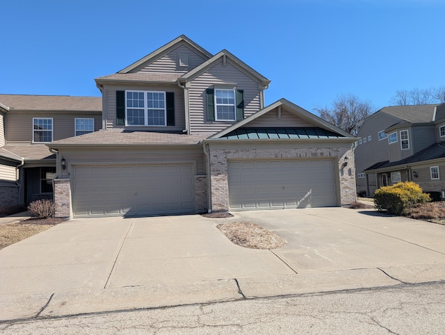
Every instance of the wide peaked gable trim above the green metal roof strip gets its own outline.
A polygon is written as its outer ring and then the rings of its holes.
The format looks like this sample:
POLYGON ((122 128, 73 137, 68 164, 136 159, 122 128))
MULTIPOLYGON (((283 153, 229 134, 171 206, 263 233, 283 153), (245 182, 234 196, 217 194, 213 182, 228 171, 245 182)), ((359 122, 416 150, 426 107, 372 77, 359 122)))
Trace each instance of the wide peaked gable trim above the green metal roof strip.
MULTIPOLYGON (((263 108, 261 111, 258 111, 257 113, 254 113, 249 117, 246 117, 245 119, 232 124, 232 126, 223 129, 223 131, 220 131, 219 133, 210 136, 209 139, 218 139, 222 136, 227 135, 231 131, 234 131, 235 129, 241 128, 241 126, 248 126, 249 122, 252 122, 253 120, 257 119, 258 117, 261 117, 266 113, 270 112, 274 113, 275 109, 280 106, 282 108, 284 107, 286 112, 292 113, 293 115, 300 117, 302 120, 314 124, 314 126, 318 126, 320 128, 333 131, 334 133, 339 133, 341 136, 344 136, 344 138, 351 138, 353 140, 356 140, 355 136, 350 135, 350 133, 346 133, 346 131, 343 131, 339 129, 337 126, 334 126, 329 122, 326 122, 325 120, 321 119, 321 117, 318 117, 312 113, 309 113, 308 111, 305 111, 305 109, 301 108, 300 106, 297 106, 296 104, 292 104, 290 101, 286 99, 280 99, 275 103, 270 104, 266 108, 263 108)), ((273 124, 271 124, 270 126, 273 126, 273 124)))

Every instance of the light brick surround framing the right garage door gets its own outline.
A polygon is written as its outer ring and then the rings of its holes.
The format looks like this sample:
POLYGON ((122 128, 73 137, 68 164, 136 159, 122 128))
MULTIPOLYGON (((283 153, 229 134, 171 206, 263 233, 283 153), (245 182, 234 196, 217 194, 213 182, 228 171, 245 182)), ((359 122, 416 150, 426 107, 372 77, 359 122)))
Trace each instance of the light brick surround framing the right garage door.
MULTIPOLYGON (((227 181, 227 159, 261 158, 334 158, 338 163, 340 205, 355 202, 355 170, 353 149, 304 148, 304 149, 211 149, 211 210, 229 210, 229 184, 227 181), (344 158, 348 156, 348 164, 344 158)), ((315 178, 315 176, 314 176, 315 178)))

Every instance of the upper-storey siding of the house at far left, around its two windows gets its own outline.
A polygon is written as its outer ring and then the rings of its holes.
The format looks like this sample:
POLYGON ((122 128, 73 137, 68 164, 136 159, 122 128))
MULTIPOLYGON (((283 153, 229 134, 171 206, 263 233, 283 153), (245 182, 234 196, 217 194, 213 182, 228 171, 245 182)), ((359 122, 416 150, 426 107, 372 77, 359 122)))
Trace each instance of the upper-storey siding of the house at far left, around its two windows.
POLYGON ((8 127, 6 128, 6 140, 8 144, 31 143, 33 140, 33 118, 44 117, 53 119, 54 140, 62 140, 74 136, 74 119, 94 118, 95 131, 102 128, 102 115, 95 113, 71 113, 60 111, 54 112, 18 112, 8 113, 8 127))

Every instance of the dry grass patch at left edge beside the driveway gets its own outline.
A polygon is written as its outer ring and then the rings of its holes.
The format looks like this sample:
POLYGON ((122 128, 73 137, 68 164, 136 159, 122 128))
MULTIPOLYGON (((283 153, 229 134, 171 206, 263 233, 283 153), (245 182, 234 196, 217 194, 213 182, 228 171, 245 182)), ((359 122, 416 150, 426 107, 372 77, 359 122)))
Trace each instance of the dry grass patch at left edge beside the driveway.
POLYGON ((59 218, 31 218, 18 223, 0 224, 0 249, 45 231, 63 221, 59 218))

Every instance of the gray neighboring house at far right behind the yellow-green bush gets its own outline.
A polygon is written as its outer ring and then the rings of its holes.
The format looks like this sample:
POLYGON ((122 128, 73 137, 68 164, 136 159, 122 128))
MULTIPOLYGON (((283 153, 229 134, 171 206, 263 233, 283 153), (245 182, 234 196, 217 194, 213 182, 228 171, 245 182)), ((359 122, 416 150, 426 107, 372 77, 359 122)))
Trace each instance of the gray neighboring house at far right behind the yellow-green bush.
POLYGON ((358 193, 372 196, 398 181, 415 181, 436 196, 445 189, 445 104, 382 108, 357 137, 358 193))

